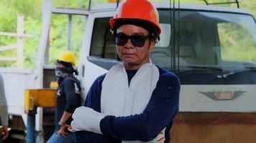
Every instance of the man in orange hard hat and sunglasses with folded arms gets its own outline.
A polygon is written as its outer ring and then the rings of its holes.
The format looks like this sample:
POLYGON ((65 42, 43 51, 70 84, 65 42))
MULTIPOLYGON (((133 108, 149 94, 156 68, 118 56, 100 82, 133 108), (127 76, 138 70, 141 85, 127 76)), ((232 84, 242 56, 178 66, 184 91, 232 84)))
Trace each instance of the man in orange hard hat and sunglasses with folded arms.
POLYGON ((74 112, 76 142, 170 142, 180 82, 150 62, 161 32, 157 9, 147 0, 124 1, 110 26, 123 64, 98 77, 74 112))

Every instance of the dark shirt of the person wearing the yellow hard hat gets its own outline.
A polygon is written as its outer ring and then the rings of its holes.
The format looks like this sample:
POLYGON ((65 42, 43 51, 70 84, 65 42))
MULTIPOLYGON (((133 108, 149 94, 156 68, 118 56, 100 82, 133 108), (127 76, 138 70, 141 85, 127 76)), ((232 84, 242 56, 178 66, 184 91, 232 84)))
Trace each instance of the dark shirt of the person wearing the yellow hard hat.
MULTIPOLYGON (((55 130, 60 129, 58 122, 60 122, 64 112, 73 113, 77 107, 81 106, 80 92, 80 82, 73 75, 68 75, 59 83, 55 109, 55 130)), ((71 121, 72 117, 65 123, 70 124, 71 121)))

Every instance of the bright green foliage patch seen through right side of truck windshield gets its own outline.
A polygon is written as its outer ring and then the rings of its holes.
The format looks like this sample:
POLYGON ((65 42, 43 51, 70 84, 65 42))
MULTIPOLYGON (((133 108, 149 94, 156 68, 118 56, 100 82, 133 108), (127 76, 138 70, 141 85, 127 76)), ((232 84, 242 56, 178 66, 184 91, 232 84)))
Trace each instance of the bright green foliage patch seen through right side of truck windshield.
MULTIPOLYGON (((252 19, 244 20, 250 21, 252 19)), ((244 23, 247 21, 244 21, 244 23)), ((250 62, 256 62, 256 42, 253 37, 254 34, 250 34, 250 29, 246 25, 237 23, 218 24, 221 45, 219 64, 222 66, 237 66, 240 63, 240 66, 243 66, 241 64, 253 66, 250 62)))

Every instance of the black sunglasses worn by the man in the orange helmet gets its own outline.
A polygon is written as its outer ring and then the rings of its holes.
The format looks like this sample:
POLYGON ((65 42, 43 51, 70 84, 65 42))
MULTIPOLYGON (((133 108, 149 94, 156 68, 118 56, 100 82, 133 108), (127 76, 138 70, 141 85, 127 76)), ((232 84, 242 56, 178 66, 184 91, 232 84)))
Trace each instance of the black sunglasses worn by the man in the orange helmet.
POLYGON ((141 47, 145 44, 146 39, 151 39, 152 36, 144 35, 132 35, 128 36, 126 34, 114 34, 114 43, 118 46, 124 46, 127 44, 128 39, 132 41, 133 46, 141 47))

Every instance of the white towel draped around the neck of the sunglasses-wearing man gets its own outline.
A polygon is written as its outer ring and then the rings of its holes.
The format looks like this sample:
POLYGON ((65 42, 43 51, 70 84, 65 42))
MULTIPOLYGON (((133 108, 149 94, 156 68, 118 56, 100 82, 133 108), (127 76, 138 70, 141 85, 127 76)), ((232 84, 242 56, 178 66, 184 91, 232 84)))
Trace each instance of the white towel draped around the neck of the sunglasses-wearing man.
MULTIPOLYGON (((116 117, 142 113, 150 101, 158 79, 157 67, 147 63, 140 67, 128 85, 124 66, 112 66, 102 82, 101 112, 116 117)), ((135 142, 140 141, 132 141, 135 142)))

